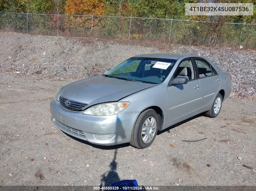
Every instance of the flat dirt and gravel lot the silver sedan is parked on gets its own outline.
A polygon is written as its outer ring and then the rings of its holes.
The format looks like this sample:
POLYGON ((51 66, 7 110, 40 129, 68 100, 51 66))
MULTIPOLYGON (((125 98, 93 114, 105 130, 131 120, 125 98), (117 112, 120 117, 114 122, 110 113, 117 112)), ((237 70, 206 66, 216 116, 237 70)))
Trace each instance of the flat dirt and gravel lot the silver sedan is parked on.
POLYGON ((0 73, 0 185, 255 185, 256 100, 229 98, 217 118, 188 119, 146 149, 104 147, 51 122, 49 102, 71 81, 0 73))

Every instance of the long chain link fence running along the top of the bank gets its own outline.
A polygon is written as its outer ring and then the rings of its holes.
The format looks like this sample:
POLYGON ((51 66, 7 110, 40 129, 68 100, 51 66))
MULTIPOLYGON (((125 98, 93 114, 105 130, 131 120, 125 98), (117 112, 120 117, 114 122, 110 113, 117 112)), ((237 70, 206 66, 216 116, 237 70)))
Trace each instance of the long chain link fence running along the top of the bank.
POLYGON ((256 24, 99 15, 0 12, 0 30, 63 37, 256 48, 256 24))

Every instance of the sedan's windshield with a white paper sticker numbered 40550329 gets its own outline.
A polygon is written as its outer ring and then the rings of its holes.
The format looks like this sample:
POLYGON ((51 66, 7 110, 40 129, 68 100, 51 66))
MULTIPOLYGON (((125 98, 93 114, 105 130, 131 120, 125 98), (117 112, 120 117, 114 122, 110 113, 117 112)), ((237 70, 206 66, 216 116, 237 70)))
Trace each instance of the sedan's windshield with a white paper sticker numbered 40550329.
POLYGON ((159 84, 168 76, 175 62, 175 59, 132 57, 105 73, 105 76, 159 84))

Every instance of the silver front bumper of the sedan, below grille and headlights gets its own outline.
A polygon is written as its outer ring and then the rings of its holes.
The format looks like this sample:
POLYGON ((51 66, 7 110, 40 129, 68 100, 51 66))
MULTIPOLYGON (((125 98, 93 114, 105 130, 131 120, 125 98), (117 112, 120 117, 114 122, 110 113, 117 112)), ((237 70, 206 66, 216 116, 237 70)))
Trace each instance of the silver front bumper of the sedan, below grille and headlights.
POLYGON ((52 122, 63 132, 96 145, 118 145, 131 141, 131 133, 138 113, 112 116, 92 116, 81 111, 67 110, 50 102, 52 122))

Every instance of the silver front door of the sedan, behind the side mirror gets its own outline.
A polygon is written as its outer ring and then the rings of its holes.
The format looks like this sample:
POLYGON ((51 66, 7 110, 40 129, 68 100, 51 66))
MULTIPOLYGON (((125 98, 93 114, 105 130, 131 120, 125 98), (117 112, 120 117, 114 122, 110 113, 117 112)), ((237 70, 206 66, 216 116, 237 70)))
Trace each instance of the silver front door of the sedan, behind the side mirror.
POLYGON ((190 116, 199 110, 199 99, 201 84, 196 79, 195 67, 192 59, 181 61, 174 78, 185 76, 188 78, 187 84, 171 85, 167 88, 168 94, 168 121, 167 124, 174 123, 179 119, 190 116))

